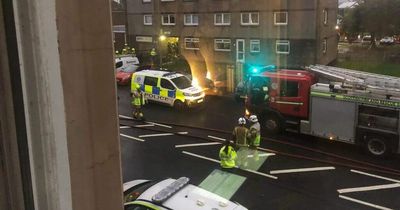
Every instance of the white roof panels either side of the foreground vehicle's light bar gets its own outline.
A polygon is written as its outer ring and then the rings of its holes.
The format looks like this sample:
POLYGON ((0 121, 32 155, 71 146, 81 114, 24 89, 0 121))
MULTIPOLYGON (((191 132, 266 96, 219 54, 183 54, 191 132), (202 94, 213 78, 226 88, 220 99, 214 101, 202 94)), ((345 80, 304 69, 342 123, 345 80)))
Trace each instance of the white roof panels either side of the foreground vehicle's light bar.
MULTIPOLYGON (((139 200, 152 201, 155 194, 167 188, 175 179, 161 181, 139 196, 139 200)), ((246 210, 245 207, 233 203, 219 195, 211 193, 191 184, 187 184, 175 192, 171 197, 162 202, 162 206, 170 209, 224 209, 246 210)))

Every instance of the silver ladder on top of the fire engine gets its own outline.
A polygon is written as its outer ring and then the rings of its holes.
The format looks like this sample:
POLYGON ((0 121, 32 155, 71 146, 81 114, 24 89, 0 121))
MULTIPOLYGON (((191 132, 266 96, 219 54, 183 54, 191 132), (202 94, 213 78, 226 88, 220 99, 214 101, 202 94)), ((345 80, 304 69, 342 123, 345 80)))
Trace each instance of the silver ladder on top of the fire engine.
POLYGON ((387 98, 391 96, 400 97, 400 78, 398 77, 324 65, 311 65, 307 69, 329 80, 350 85, 353 89, 362 89, 373 94, 386 95, 387 98))

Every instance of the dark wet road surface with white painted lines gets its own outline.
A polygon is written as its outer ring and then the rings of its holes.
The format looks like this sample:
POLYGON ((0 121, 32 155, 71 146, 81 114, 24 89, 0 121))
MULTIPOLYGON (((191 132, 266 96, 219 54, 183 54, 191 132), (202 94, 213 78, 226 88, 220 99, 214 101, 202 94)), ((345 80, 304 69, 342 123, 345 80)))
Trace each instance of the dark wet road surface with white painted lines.
POLYGON ((168 124, 230 132, 243 104, 230 96, 207 97, 204 107, 188 111, 149 104, 146 122, 133 122, 122 119, 131 116, 129 87, 118 87, 118 95, 124 182, 186 176, 248 209, 400 209, 398 156, 376 159, 348 144, 263 133, 262 150, 239 150, 239 168, 224 171, 218 152, 228 133, 168 124))

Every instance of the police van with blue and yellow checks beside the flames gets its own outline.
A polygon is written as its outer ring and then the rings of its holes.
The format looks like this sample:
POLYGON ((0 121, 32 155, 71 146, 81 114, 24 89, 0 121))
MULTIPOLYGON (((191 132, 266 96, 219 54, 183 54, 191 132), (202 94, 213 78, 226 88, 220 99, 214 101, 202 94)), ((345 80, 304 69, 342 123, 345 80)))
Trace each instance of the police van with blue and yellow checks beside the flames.
POLYGON ((204 92, 194 87, 189 78, 176 72, 143 70, 132 75, 131 91, 136 87, 145 98, 177 109, 194 107, 204 103, 204 92))

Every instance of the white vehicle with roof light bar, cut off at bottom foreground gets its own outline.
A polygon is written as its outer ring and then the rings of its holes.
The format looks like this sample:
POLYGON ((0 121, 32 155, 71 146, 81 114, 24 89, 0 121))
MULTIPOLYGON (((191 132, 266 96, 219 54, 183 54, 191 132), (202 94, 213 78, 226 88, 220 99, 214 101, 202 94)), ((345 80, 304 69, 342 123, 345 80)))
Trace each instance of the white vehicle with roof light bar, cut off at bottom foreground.
POLYGON ((124 183, 125 210, 247 210, 246 207, 189 184, 189 178, 124 183))

